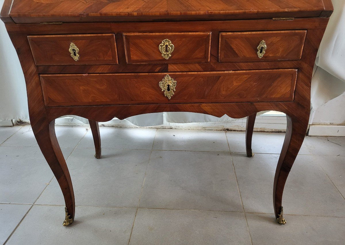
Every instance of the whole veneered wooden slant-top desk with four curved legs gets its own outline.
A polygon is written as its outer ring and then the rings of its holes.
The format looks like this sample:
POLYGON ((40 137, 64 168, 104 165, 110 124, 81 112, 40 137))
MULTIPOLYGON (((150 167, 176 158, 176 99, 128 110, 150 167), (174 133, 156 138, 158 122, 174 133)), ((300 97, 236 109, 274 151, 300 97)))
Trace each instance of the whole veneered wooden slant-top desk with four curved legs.
POLYGON ((287 115, 274 178, 279 223, 282 195, 308 127, 316 53, 331 0, 5 0, 1 19, 24 72, 32 130, 66 202, 75 201, 54 131, 64 115, 88 118, 100 158, 98 121, 190 111, 287 115))

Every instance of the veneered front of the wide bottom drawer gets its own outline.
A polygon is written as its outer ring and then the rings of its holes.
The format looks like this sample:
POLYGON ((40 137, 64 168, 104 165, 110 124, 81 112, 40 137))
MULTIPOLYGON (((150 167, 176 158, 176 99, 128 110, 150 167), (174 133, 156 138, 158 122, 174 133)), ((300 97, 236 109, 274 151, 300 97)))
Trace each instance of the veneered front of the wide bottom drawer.
POLYGON ((46 106, 82 106, 293 101, 296 76, 296 69, 285 69, 41 75, 40 79, 46 106), (166 75, 177 82, 171 99, 159 83, 166 75))

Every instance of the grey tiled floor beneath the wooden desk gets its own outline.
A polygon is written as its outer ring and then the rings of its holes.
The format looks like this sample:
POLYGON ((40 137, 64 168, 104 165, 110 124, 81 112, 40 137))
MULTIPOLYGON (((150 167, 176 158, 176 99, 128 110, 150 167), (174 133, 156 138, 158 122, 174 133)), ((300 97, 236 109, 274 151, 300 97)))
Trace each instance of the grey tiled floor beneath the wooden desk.
POLYGON ((0 244, 344 244, 345 137, 306 137, 275 222, 284 134, 56 126, 76 197, 64 203, 30 126, 0 127, 0 244))

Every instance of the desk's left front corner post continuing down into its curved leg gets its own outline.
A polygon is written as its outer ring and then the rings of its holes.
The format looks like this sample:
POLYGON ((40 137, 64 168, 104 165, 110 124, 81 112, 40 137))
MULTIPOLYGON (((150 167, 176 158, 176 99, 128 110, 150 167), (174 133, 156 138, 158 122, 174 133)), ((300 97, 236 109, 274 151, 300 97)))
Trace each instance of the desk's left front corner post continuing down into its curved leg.
MULTIPOLYGON (((32 31, 34 32, 34 31, 32 31)), ((11 41, 18 52, 19 61, 24 72, 28 95, 30 124, 43 156, 56 177, 61 188, 70 218, 75 216, 75 198, 69 170, 62 155, 55 134, 55 119, 48 119, 44 105, 42 88, 35 66, 27 35, 9 33, 11 41)), ((62 210, 63 212, 63 210, 62 210)), ((65 214, 65 213, 63 213, 65 214)), ((62 220, 61 220, 62 224, 62 220)))

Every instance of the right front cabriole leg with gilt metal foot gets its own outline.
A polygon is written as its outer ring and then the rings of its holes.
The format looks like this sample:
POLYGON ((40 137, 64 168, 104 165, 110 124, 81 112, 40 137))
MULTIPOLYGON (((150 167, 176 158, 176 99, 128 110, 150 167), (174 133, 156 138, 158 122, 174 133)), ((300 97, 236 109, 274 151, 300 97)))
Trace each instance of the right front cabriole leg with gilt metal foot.
POLYGON ((298 151, 302 146, 308 127, 308 114, 306 113, 303 115, 296 113, 296 115, 298 115, 298 118, 297 116, 290 117, 286 115, 286 135, 274 177, 273 206, 277 222, 280 224, 286 223, 286 220, 283 217, 282 207, 282 197, 285 182, 297 157, 298 151))

